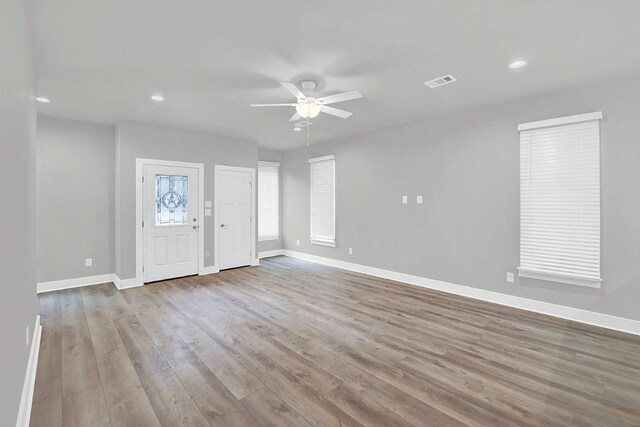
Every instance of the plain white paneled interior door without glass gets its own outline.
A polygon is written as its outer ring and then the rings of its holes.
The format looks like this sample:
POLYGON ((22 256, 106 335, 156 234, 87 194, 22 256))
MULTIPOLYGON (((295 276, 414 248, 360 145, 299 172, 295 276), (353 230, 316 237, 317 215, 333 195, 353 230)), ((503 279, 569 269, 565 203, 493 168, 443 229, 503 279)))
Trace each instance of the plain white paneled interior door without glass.
POLYGON ((251 264, 252 192, 251 172, 220 170, 218 218, 220 270, 251 264))

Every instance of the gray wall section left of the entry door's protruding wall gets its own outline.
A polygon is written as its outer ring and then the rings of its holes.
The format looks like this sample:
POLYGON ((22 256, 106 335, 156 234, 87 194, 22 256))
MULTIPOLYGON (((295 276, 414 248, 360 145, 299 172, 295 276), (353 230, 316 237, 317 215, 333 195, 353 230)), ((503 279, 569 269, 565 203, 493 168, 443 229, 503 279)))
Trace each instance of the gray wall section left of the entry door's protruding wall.
POLYGON ((38 282, 113 273, 114 159, 115 128, 38 116, 38 282))

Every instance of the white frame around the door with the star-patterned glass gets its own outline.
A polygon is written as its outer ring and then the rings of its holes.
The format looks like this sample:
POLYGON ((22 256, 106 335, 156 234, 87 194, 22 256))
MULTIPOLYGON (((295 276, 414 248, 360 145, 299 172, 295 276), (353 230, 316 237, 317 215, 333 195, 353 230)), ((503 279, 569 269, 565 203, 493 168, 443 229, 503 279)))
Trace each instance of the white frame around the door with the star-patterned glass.
POLYGON ((176 166, 198 170, 198 274, 204 272, 204 163, 178 162, 172 160, 136 158, 136 282, 144 285, 144 238, 142 230, 143 197, 142 177, 144 166, 176 166))

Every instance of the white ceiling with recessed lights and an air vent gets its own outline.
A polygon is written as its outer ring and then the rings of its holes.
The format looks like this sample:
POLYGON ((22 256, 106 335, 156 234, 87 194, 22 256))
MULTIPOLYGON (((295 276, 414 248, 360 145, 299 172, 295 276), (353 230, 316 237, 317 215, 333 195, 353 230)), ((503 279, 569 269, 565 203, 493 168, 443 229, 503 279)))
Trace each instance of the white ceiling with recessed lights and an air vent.
POLYGON ((311 141, 640 72, 640 1, 30 0, 43 114, 204 130, 290 149, 278 80, 321 95, 311 141), (507 68, 517 58, 530 64, 507 68), (444 74, 459 81, 437 89, 444 74), (165 96, 164 103, 149 99, 165 96))

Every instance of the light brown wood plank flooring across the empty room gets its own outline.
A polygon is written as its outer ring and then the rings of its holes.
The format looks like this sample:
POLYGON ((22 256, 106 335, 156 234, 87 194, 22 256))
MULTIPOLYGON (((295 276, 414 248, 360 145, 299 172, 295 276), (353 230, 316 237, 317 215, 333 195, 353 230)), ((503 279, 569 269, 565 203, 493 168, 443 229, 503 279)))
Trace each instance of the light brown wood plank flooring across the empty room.
POLYGON ((291 258, 39 312, 32 426, 640 425, 640 337, 291 258))

